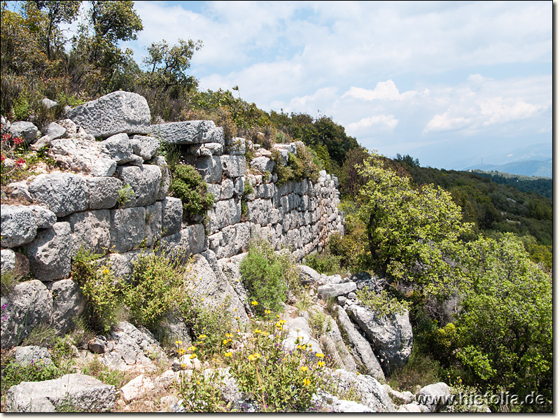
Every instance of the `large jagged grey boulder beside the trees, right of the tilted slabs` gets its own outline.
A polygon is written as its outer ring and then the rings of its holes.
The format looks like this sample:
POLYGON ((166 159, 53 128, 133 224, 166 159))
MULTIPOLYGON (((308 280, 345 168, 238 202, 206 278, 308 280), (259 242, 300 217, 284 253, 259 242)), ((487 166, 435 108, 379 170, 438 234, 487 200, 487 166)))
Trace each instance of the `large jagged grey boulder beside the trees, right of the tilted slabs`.
POLYGON ((378 316, 374 311, 352 304, 348 312, 374 345, 375 353, 387 374, 402 367, 412 351, 412 326, 408 311, 378 316))

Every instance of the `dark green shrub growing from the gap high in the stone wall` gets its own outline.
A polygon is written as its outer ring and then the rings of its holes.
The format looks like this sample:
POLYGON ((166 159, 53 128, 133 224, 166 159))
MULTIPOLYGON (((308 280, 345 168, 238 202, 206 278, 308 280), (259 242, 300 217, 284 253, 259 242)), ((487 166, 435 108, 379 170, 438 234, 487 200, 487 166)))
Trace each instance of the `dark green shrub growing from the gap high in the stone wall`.
POLYGON ((176 165, 171 189, 183 202, 186 218, 204 216, 214 204, 214 195, 207 193, 207 183, 191 165, 176 165))

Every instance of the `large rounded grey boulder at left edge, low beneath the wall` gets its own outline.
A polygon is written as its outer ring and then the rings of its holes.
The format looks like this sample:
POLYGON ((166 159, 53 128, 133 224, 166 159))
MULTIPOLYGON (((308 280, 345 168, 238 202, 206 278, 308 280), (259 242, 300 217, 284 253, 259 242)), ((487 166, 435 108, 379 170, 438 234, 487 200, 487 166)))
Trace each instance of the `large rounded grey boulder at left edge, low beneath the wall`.
POLYGON ((34 327, 50 322, 52 295, 41 281, 24 281, 1 297, 1 306, 0 342, 2 349, 10 349, 20 344, 34 327))

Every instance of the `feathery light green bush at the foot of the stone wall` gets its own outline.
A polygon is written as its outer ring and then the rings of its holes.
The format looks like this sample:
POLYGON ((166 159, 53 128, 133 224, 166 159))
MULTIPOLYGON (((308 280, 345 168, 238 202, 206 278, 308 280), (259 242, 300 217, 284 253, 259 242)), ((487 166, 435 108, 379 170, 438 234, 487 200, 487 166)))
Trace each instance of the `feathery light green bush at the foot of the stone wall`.
POLYGON ((257 314, 265 310, 278 311, 286 300, 287 284, 283 276, 283 258, 265 241, 253 241, 247 256, 241 261, 241 279, 248 291, 248 299, 258 302, 257 314))

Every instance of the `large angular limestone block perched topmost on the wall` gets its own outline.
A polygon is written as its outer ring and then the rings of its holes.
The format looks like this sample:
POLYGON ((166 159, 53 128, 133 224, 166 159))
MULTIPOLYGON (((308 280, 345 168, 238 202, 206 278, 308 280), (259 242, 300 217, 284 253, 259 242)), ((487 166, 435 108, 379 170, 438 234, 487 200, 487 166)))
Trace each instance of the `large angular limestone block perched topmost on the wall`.
POLYGON ((80 105, 66 117, 94 137, 150 132, 151 113, 146 98, 121 90, 80 105))

